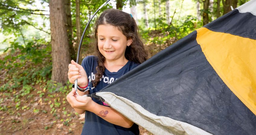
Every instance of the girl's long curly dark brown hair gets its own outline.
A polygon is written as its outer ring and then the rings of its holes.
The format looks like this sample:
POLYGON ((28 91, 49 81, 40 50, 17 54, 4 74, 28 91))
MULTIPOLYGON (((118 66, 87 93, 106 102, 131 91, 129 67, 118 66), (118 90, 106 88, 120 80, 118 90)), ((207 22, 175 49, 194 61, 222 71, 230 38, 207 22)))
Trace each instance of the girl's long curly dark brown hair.
POLYGON ((101 13, 100 17, 95 22, 95 55, 98 57, 98 66, 96 67, 97 73, 95 74, 95 80, 92 80, 93 86, 97 86, 100 78, 102 77, 105 66, 105 57, 100 53, 98 48, 97 31, 99 25, 112 25, 118 28, 127 39, 132 39, 133 42, 130 46, 126 46, 125 58, 135 63, 142 63, 147 60, 148 52, 146 51, 144 44, 139 36, 139 29, 136 21, 129 13, 125 13, 118 9, 107 9, 101 13))

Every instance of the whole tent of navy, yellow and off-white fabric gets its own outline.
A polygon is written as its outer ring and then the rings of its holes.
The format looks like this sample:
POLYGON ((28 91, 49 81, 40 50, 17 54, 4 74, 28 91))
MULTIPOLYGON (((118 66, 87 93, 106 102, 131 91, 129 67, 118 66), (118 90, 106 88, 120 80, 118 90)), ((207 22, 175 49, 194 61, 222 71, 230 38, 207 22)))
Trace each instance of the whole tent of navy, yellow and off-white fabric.
POLYGON ((241 17, 255 13, 249 2, 93 95, 153 134, 255 134, 256 25, 241 17))

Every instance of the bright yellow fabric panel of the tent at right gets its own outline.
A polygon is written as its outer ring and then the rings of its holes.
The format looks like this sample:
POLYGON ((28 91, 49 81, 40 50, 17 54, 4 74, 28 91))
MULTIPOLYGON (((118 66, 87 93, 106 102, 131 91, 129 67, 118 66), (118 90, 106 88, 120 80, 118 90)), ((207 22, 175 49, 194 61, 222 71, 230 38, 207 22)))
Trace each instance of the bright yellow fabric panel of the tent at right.
POLYGON ((256 114, 256 40, 200 28, 197 43, 229 89, 256 114), (216 42, 217 36, 222 38, 216 42))

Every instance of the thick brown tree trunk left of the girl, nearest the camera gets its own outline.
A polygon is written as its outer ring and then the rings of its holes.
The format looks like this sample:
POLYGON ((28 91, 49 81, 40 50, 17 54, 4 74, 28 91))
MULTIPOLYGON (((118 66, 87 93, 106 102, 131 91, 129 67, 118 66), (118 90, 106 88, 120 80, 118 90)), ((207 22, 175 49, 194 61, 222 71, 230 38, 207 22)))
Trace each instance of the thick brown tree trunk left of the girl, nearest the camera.
POLYGON ((69 19, 66 14, 67 9, 65 9, 67 7, 65 5, 65 3, 67 3, 66 1, 50 0, 49 2, 53 62, 51 79, 63 84, 68 80, 67 73, 68 65, 70 63, 68 34, 68 32, 70 32, 70 28, 68 22, 69 19))

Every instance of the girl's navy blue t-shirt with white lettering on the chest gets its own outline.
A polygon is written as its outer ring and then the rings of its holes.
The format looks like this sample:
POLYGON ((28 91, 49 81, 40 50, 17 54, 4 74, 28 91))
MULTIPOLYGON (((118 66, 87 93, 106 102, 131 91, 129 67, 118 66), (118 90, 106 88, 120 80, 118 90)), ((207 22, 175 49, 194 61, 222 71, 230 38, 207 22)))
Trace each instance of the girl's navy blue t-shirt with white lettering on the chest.
MULTIPOLYGON (((82 61, 82 66, 84 67, 87 77, 89 79, 89 86, 92 86, 91 80, 95 79, 95 74, 97 73, 96 67, 98 65, 96 56, 87 56, 82 61)), ((90 90, 90 94, 100 91, 102 88, 112 83, 114 80, 118 79, 128 71, 137 67, 139 64, 128 61, 120 70, 117 72, 110 72, 105 68, 105 72, 100 79, 98 85, 90 90)), ((107 104, 99 101, 97 99, 92 98, 92 100, 100 105, 108 106, 107 104)), ((96 114, 86 111, 85 112, 85 124, 83 126, 82 135, 134 135, 139 134, 139 126, 133 124, 131 128, 123 128, 118 125, 111 124, 96 114)))

